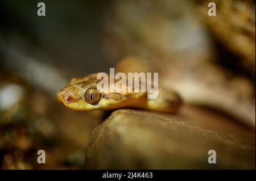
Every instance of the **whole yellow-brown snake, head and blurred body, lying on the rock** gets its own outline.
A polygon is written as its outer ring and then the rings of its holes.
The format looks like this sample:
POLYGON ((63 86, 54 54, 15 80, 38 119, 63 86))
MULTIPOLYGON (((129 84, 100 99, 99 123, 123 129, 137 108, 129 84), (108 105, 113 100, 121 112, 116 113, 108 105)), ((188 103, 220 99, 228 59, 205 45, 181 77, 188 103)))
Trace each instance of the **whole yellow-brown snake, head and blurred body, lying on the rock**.
MULTIPOLYGON (((98 86, 98 82, 101 80, 97 79, 97 74, 72 78, 69 85, 57 92, 57 100, 65 107, 79 111, 137 108, 175 113, 182 105, 181 96, 176 91, 160 87, 158 87, 158 96, 155 99, 148 99, 147 91, 117 92, 115 90, 102 90, 98 86)), ((116 82, 117 80, 114 83, 116 82)), ((126 88, 129 88, 128 85, 126 86, 126 88)))

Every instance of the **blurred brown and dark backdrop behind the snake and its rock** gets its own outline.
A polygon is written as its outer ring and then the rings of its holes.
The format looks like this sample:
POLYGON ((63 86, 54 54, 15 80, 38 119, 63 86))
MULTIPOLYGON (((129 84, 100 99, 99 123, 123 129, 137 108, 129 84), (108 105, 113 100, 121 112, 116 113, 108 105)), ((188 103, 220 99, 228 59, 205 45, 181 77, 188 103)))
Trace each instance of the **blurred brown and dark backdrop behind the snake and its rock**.
POLYGON ((217 16, 204 0, 44 0, 46 16, 39 2, 0 0, 1 169, 81 169, 104 112, 68 110, 56 92, 113 67, 158 72, 160 86, 228 116, 255 145, 255 1, 212 1, 217 16))

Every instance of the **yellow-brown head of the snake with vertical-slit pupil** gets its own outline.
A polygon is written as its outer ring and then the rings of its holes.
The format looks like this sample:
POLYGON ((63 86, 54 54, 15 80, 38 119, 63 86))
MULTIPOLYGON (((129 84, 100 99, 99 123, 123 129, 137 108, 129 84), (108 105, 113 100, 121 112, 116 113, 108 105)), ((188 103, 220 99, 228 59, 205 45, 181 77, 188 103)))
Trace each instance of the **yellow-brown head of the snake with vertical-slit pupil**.
MULTIPOLYGON (((145 105, 143 92, 118 92, 101 89, 97 74, 84 78, 73 78, 68 86, 57 92, 57 100, 73 110, 113 110, 123 107, 141 107, 145 105)), ((114 86, 114 85, 109 85, 114 86)))

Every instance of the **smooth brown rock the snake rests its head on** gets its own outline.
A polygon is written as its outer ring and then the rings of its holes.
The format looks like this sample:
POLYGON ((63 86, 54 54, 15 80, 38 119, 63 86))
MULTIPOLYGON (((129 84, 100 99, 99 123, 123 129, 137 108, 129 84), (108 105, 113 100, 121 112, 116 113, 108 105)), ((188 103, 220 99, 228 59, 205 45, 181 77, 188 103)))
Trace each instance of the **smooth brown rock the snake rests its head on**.
POLYGON ((200 108, 180 115, 115 111, 94 130, 84 168, 255 169, 255 133, 220 117, 200 108), (209 150, 216 164, 208 163, 209 150))

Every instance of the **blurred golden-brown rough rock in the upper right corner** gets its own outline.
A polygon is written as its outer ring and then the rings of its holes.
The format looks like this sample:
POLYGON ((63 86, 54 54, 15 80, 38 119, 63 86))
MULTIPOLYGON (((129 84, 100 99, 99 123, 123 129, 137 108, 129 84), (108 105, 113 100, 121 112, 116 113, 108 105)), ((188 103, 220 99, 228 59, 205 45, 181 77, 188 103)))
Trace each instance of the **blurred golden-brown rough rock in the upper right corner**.
POLYGON ((228 60, 229 64, 237 64, 237 69, 246 71, 255 79, 255 2, 214 0, 212 2, 217 5, 215 18, 207 13, 208 1, 195 2, 200 18, 218 44, 240 57, 237 62, 234 58, 228 60))

